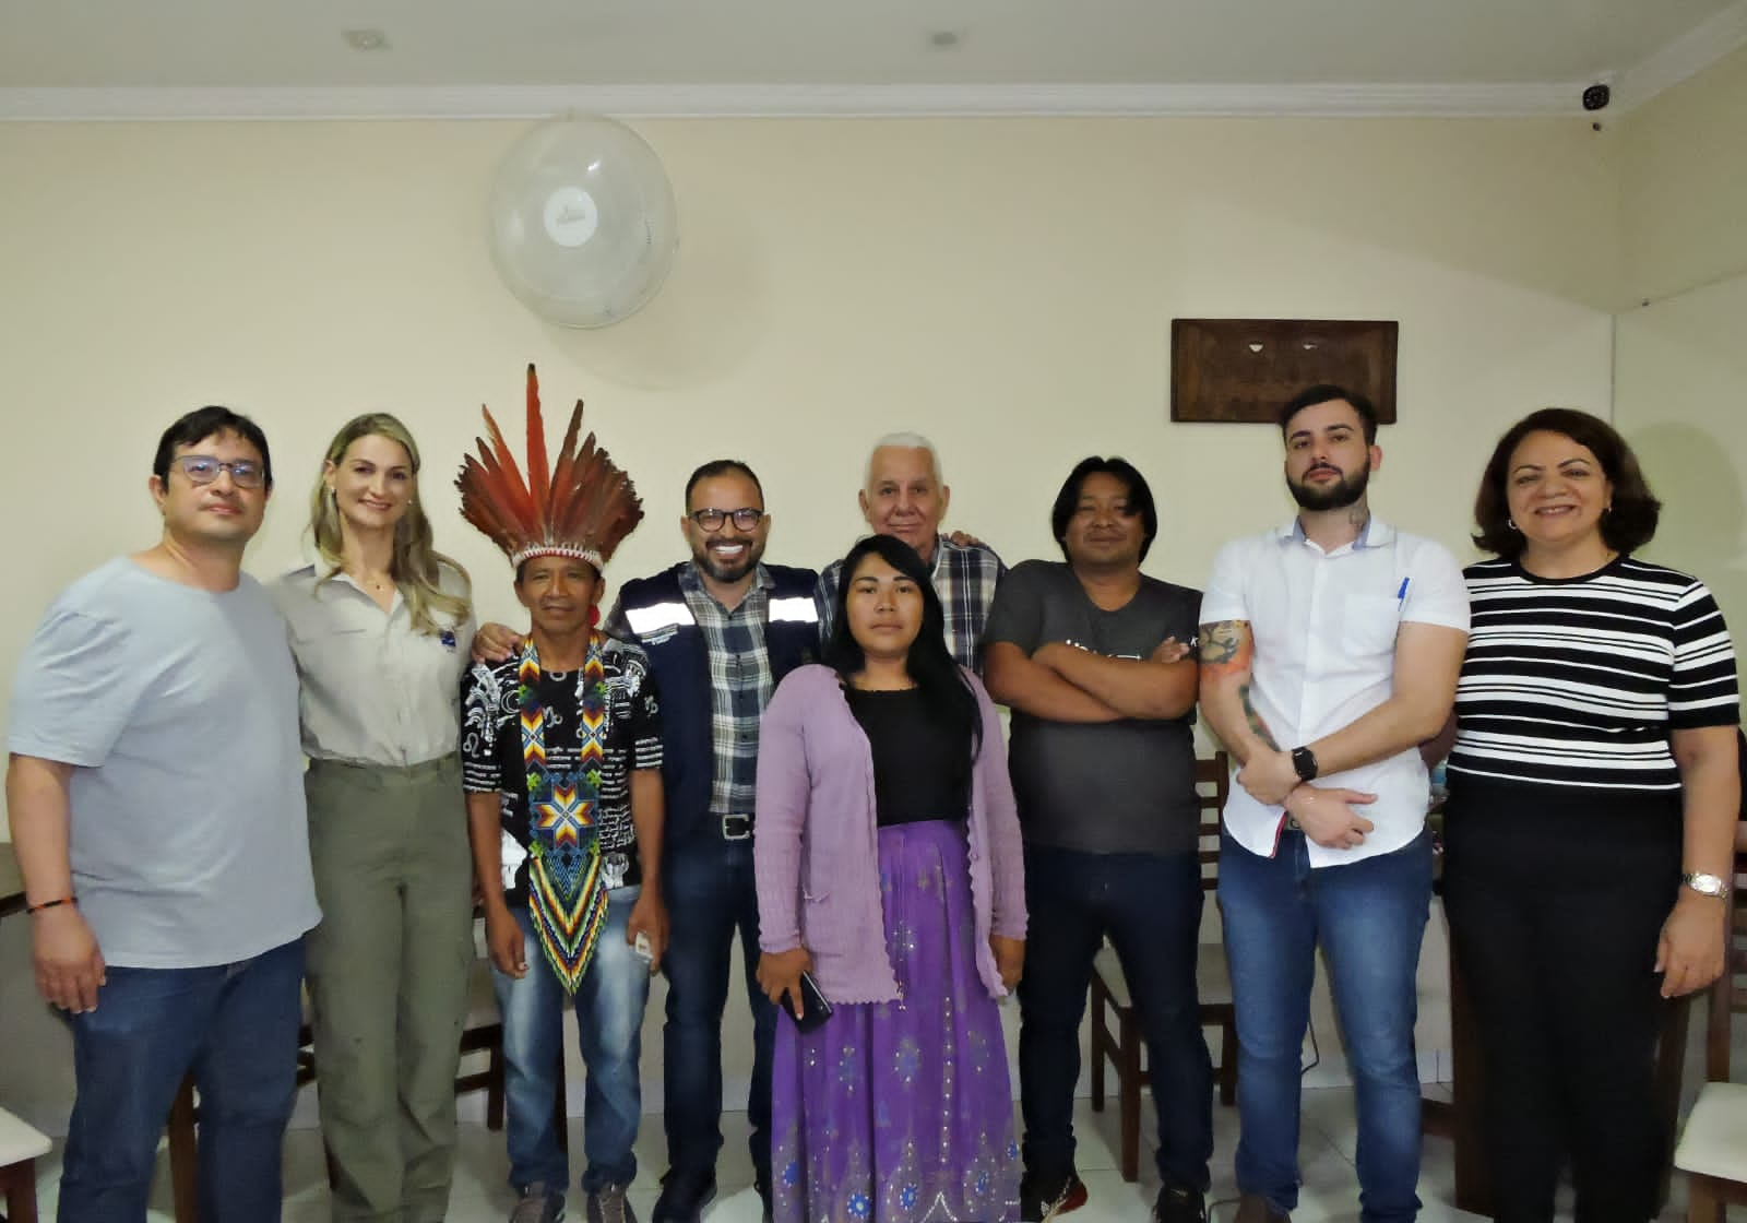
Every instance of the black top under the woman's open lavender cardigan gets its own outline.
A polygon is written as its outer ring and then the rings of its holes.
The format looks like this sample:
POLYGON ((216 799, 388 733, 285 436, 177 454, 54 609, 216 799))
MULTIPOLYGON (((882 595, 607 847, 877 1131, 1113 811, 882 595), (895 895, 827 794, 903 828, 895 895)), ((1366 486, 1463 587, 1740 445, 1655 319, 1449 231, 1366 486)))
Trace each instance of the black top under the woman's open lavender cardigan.
POLYGON ((874 748, 874 804, 880 828, 964 819, 971 809, 971 734, 935 716, 921 688, 846 688, 849 711, 874 748))

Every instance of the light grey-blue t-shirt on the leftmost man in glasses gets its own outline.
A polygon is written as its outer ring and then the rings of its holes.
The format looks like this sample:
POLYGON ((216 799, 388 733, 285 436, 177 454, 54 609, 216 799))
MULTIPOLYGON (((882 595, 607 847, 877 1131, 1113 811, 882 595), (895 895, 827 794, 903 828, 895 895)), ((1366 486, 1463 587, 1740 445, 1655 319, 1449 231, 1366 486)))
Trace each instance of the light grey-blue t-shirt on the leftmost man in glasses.
POLYGON ((19 659, 7 748, 77 765, 73 891, 107 963, 229 964, 320 921, 297 671, 253 578, 117 559, 70 585, 19 659))

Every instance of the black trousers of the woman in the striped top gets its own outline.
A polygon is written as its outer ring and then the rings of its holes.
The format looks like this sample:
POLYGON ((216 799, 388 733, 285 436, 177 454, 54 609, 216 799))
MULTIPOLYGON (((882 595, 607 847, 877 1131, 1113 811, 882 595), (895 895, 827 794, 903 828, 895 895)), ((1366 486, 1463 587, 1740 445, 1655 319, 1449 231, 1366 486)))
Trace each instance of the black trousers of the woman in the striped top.
POLYGON ((1651 966, 1679 888, 1679 805, 1607 816, 1452 797, 1448 811, 1445 909, 1487 1059, 1495 1218, 1551 1220, 1569 1150, 1578 1220, 1642 1223, 1668 1157, 1651 966))

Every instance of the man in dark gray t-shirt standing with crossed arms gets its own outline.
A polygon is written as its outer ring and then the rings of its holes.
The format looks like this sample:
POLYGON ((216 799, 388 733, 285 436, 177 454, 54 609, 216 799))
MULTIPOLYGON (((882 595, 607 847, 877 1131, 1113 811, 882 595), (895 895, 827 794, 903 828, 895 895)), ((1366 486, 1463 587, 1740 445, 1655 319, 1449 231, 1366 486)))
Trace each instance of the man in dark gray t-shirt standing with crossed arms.
POLYGON ((1195 996, 1202 884, 1188 650, 1200 596, 1141 573, 1158 512, 1123 459, 1081 461, 1052 528, 1067 563, 1012 570, 984 634, 989 694, 1013 711, 1008 760, 1031 912, 1019 982, 1020 1218, 1087 1200, 1073 1095, 1092 957, 1109 936, 1151 1059, 1162 1181, 1153 1218, 1200 1223, 1212 1155, 1212 1066, 1195 996))

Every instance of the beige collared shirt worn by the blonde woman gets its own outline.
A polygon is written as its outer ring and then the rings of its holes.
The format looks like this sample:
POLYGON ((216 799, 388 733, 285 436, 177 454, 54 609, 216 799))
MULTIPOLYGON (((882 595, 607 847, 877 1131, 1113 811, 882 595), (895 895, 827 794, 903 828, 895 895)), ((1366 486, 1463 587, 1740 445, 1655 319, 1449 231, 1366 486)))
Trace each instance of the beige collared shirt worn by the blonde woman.
MULTIPOLYGON (((320 573, 306 564, 269 587, 290 625, 304 753, 393 767, 454 755, 473 617, 438 634, 418 632, 398 591, 383 612, 344 573, 318 582, 320 573)), ((447 568, 444 591, 465 594, 447 568)))

